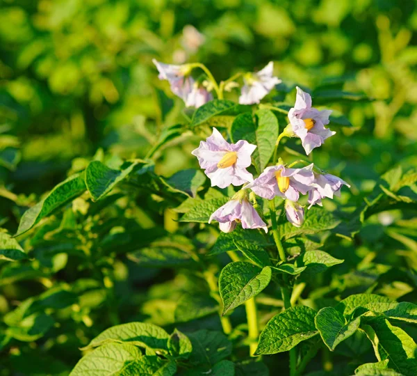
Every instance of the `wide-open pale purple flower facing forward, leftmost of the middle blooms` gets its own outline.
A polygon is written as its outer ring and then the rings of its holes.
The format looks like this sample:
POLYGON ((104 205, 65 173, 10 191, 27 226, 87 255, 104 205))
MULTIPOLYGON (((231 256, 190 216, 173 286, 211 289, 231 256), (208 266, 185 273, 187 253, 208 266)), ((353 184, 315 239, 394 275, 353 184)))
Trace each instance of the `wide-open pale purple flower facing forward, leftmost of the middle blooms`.
POLYGON ((229 185, 243 185, 252 182, 252 173, 246 168, 252 163, 251 155, 255 145, 240 140, 228 143, 222 134, 213 128, 213 134, 191 152, 198 158, 199 165, 211 180, 211 187, 226 188, 229 185))

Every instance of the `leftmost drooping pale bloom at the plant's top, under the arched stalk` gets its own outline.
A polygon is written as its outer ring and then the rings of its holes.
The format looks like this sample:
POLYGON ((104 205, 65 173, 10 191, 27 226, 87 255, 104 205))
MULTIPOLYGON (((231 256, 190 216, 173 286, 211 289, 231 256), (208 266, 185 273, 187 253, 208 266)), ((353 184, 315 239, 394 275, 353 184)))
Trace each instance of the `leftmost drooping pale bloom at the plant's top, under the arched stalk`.
POLYGON ((158 69, 159 79, 166 79, 170 83, 172 93, 180 97, 186 103, 186 107, 197 108, 213 99, 213 95, 190 76, 188 64, 164 64, 155 59, 152 62, 158 69))

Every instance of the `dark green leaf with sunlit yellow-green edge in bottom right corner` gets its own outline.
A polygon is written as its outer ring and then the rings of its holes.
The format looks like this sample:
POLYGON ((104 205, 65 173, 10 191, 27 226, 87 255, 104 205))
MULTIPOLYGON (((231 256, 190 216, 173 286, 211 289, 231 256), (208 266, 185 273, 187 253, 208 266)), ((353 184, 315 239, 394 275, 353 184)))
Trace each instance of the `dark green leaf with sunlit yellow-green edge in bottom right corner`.
POLYGON ((373 345, 378 361, 388 359, 388 367, 406 376, 417 375, 417 345, 404 330, 382 316, 361 325, 373 345))

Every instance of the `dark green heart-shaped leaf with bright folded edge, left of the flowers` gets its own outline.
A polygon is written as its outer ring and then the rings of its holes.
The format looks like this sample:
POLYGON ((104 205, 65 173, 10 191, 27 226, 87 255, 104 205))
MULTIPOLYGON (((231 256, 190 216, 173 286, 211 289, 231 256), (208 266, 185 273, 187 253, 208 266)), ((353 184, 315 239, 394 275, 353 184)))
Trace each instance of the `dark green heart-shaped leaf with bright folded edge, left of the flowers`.
POLYGON ((110 192, 118 182, 133 171, 139 162, 127 162, 122 171, 108 168, 99 161, 92 161, 85 169, 85 185, 92 197, 92 201, 98 201, 110 192))

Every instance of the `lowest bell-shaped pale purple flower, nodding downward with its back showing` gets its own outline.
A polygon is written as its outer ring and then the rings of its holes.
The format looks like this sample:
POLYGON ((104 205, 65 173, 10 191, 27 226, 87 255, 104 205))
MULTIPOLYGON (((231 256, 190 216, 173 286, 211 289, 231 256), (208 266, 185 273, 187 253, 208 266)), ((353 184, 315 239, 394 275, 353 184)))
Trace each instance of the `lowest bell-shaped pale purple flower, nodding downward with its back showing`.
POLYGON ((268 233, 265 222, 248 201, 245 190, 238 191, 230 201, 213 212, 208 223, 211 221, 218 221, 220 230, 224 233, 233 231, 236 223, 241 223, 243 228, 263 228, 265 233, 268 233))

